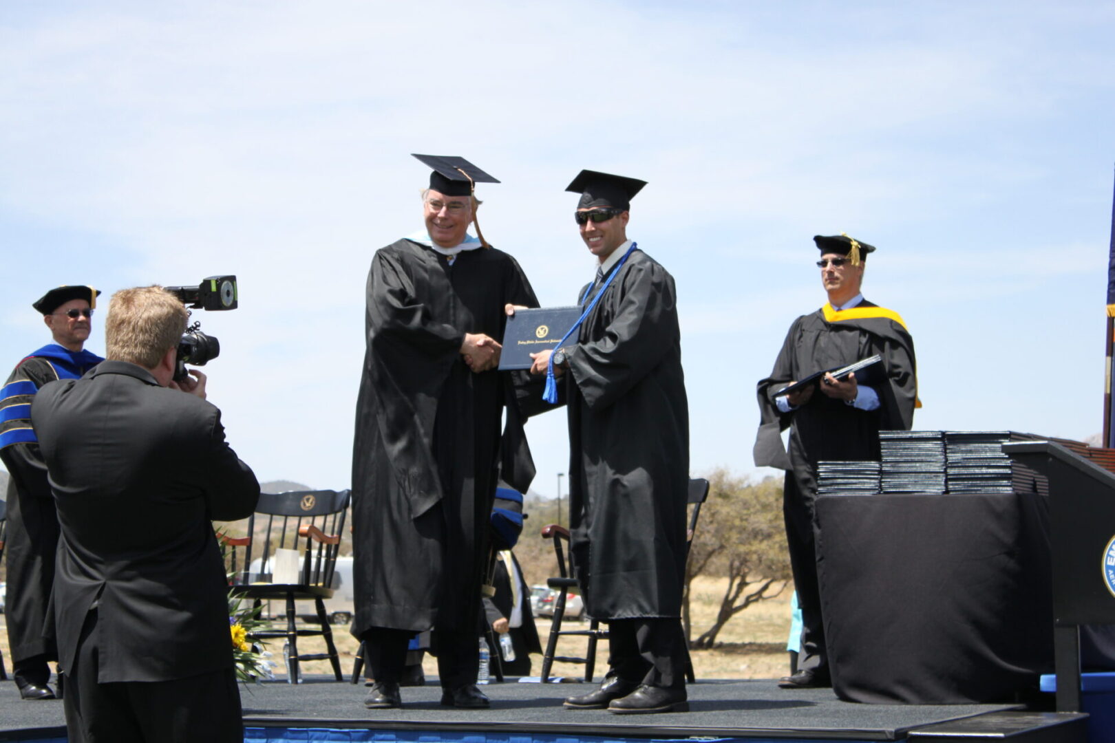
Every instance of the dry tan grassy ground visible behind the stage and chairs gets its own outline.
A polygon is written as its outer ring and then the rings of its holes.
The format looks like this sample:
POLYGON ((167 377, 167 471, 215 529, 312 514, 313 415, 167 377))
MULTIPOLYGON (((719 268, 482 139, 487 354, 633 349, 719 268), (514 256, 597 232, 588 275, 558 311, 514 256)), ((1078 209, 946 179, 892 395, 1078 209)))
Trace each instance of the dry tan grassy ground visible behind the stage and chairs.
MULTIPOLYGON (((696 637, 707 629, 716 616, 720 595, 726 580, 698 578, 694 585, 692 595, 692 636, 696 637)), ((780 596, 760 602, 748 607, 734 617, 718 637, 718 646, 708 651, 692 651, 694 671, 698 678, 776 678, 788 672, 789 661, 786 653, 786 636, 789 632, 789 596, 787 588, 780 596)), ((0 615, 0 652, 3 653, 4 665, 11 673, 11 655, 8 652, 8 630, 0 615)), ((547 617, 535 619, 539 636, 545 646, 546 633, 550 628, 547 617)), ((572 628, 579 623, 563 623, 572 628)), ((586 623, 585 623, 586 624, 586 623)), ((358 644, 349 634, 347 626, 334 626, 333 639, 340 655, 341 672, 348 677, 352 673, 352 663, 358 644)), ((586 641, 581 637, 563 638, 558 645, 560 655, 583 655, 586 641)), ((266 647, 275 662, 275 675, 285 677, 287 671, 282 663, 282 641, 271 641, 266 647)), ((299 641, 301 653, 324 652, 324 641, 320 637, 303 637, 299 641)), ((598 651, 597 676, 607 668, 608 651, 602 646, 598 651)), ((532 656, 534 673, 542 665, 542 656, 532 656)), ((437 674, 437 661, 427 655, 423 664, 427 676, 437 674)), ((302 672, 309 674, 331 673, 328 661, 310 661, 302 664, 302 672)), ((583 666, 556 663, 554 675, 579 676, 583 666)))

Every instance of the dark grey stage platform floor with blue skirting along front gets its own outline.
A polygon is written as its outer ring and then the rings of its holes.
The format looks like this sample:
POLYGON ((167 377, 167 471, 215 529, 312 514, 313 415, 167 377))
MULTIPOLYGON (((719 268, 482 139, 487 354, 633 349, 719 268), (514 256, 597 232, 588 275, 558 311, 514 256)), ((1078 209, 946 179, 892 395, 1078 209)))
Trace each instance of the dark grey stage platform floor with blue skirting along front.
MULTIPOLYGON (((570 711, 565 696, 588 684, 489 684, 492 708, 439 704, 436 683, 403 690, 403 710, 366 710, 367 690, 309 678, 291 686, 242 687, 245 741, 377 743, 586 743, 621 741, 947 741, 1083 742, 1086 715, 1026 712, 1021 706, 870 705, 838 701, 832 690, 779 690, 774 681, 701 681, 689 686, 691 711, 614 715, 570 711)), ((65 741, 61 702, 22 702, 0 683, 0 741, 65 741)))

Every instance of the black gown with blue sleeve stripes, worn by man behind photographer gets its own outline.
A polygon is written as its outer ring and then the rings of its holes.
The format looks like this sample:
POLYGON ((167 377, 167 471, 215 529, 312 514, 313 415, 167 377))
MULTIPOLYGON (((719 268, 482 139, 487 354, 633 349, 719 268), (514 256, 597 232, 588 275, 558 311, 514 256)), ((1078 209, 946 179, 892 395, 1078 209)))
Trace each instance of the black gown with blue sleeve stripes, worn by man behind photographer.
MULTIPOLYGON (((46 351, 51 346, 40 349, 46 351)), ((57 346, 56 346, 57 348, 57 346)), ((58 514, 55 510, 47 466, 38 441, 30 433, 30 409, 35 393, 48 382, 65 377, 80 377, 100 361, 91 353, 74 354, 83 362, 67 368, 58 359, 56 368, 46 358, 30 356, 12 370, 0 395, 0 411, 8 411, 0 422, 0 459, 10 475, 8 479, 8 536, 4 559, 8 560, 8 588, 4 612, 12 661, 46 655, 54 659, 54 642, 43 637, 43 623, 50 589, 55 579, 55 553, 58 549, 58 514), (20 387, 18 382, 30 382, 20 387), (26 412, 20 412, 26 410, 26 412), (20 436, 26 431, 28 436, 20 436)))

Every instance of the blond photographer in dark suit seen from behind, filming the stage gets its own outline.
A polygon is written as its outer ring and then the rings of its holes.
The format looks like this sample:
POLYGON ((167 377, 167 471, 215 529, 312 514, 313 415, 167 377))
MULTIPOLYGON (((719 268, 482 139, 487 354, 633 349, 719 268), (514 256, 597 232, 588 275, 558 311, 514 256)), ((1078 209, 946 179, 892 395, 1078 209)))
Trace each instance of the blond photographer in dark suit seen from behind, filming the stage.
POLYGON ((210 520, 249 516, 260 488, 205 377, 173 381, 185 327, 162 287, 117 292, 108 360, 31 405, 61 527, 52 605, 74 742, 243 741, 210 520))

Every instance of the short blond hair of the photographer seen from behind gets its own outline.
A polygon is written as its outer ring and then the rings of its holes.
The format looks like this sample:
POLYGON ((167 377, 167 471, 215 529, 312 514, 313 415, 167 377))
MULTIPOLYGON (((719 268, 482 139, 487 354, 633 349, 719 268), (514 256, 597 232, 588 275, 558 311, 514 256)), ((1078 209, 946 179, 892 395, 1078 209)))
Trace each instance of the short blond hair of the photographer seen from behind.
POLYGON ((186 330, 186 307, 162 286, 122 289, 113 294, 105 320, 105 353, 154 369, 178 345, 186 330))

